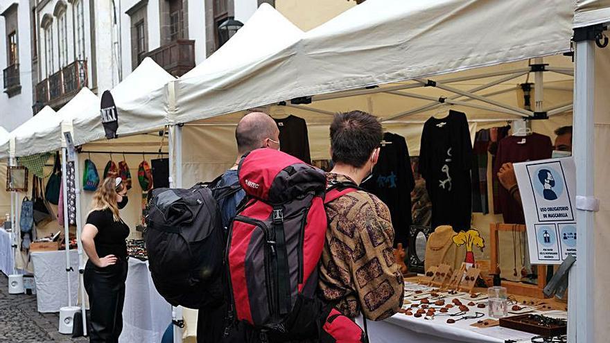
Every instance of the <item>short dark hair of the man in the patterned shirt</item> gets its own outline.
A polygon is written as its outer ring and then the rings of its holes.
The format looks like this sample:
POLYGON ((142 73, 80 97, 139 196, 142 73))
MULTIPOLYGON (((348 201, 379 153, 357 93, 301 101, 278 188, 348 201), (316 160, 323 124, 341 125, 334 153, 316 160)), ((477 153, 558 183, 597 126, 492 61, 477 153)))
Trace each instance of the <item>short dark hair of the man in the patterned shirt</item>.
POLYGON ((362 111, 336 114, 331 124, 333 162, 362 168, 382 137, 381 124, 371 114, 362 111))

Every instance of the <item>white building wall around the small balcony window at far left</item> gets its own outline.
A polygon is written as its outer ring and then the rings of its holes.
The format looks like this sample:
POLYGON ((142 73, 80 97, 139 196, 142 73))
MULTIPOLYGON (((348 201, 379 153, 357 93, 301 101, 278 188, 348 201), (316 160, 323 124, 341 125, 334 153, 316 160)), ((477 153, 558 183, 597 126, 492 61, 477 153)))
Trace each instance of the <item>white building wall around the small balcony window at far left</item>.
MULTIPOLYGON (((19 1, 0 1, 0 12, 4 12, 13 3, 19 1)), ((10 131, 31 118, 32 112, 32 68, 30 64, 30 18, 27 1, 20 1, 17 5, 17 41, 19 54, 19 83, 21 92, 11 98, 4 93, 4 85, 0 92, 0 126, 10 131)), ((0 17, 0 69, 6 69, 7 46, 6 46, 6 23, 5 18, 0 17)))

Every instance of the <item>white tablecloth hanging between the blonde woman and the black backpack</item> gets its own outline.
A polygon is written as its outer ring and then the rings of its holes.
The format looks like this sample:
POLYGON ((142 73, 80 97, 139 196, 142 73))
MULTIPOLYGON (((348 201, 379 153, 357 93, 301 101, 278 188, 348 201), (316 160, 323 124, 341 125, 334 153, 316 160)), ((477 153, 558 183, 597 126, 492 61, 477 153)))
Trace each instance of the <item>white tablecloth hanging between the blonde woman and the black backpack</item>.
POLYGON ((165 329, 171 323, 171 305, 155 289, 148 262, 129 259, 125 287, 123 333, 119 342, 161 342, 165 329))

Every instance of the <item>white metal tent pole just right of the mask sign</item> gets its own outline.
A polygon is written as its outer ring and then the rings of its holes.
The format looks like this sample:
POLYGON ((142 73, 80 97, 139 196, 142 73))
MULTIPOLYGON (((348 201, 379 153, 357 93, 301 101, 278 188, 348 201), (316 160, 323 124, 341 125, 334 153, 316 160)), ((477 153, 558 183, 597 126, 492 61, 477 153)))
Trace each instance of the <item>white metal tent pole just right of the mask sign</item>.
MULTIPOLYGON (((582 28, 580 30, 587 30, 582 28)), ((576 195, 577 197, 593 197, 594 195, 594 161, 593 145, 595 137, 594 125, 594 89, 595 85, 595 42, 593 39, 583 39, 576 42, 575 61, 576 76, 574 87, 574 134, 573 151, 576 163, 576 195)), ((595 301, 593 285, 595 284, 595 236, 593 227, 593 212, 577 209, 577 262, 576 277, 570 273, 571 284, 577 290, 575 297, 568 298, 568 342, 595 342, 595 301), (575 280, 574 280, 575 279, 575 280), (575 322, 575 325, 573 324, 575 322)), ((572 294, 575 292, 572 291, 572 294)))

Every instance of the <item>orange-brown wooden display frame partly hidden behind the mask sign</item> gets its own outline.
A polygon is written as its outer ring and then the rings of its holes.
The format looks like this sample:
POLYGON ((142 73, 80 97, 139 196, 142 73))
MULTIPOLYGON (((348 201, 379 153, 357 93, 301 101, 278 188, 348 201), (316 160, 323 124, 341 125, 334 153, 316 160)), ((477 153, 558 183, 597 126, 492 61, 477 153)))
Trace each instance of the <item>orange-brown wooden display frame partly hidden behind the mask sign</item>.
MULTIPOLYGON (((503 223, 491 223, 489 225, 489 238, 491 240, 491 251, 489 274, 498 274, 498 252, 499 252, 499 232, 500 231, 526 231, 525 225, 512 225, 503 223)), ((525 295, 526 297, 534 297, 543 299, 546 298, 543 289, 546 287, 546 265, 538 265, 538 284, 528 285, 527 283, 515 282, 515 281, 502 281, 502 286, 506 288, 507 292, 516 295, 525 295)))

